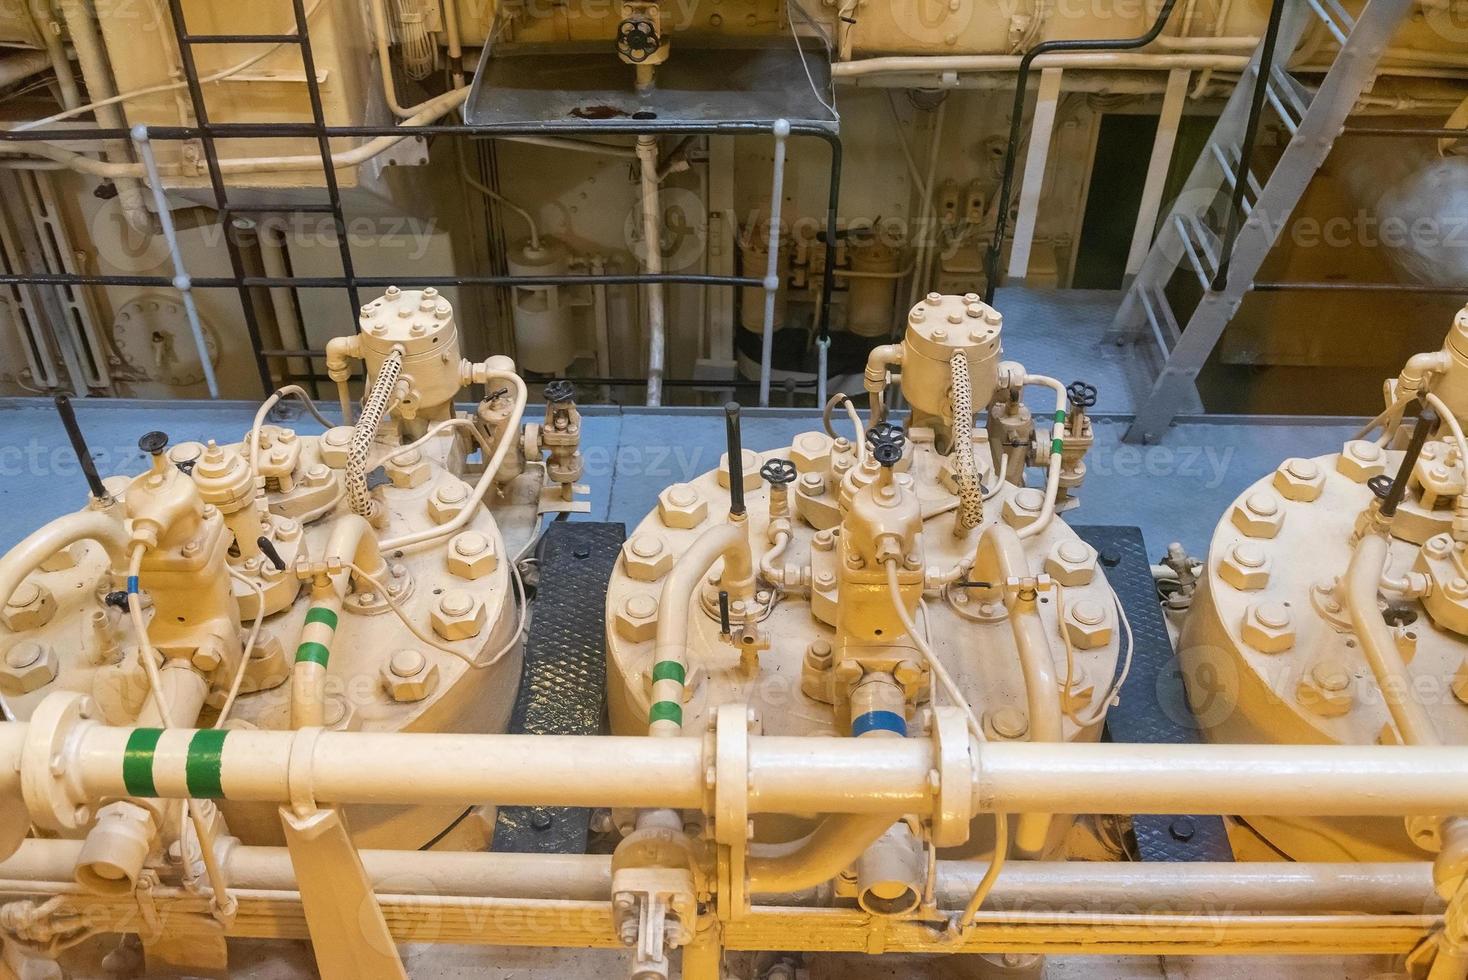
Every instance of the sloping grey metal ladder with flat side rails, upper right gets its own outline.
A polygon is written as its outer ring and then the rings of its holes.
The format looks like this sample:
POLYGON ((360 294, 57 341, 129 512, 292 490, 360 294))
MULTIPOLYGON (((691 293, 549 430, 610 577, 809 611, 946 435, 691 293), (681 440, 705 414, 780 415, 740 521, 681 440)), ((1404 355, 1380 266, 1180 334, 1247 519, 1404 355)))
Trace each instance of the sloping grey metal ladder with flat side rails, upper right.
POLYGON ((1367 0, 1361 16, 1352 18, 1340 0, 1276 0, 1270 31, 1161 223, 1107 334, 1114 343, 1155 343, 1163 359, 1126 442, 1155 442, 1173 418, 1196 405, 1199 371, 1254 288, 1274 239, 1330 154, 1412 6, 1414 0, 1367 0), (1315 19, 1340 50, 1311 95, 1286 66, 1315 19), (1264 111, 1284 126, 1290 142, 1260 179, 1252 163, 1264 111), (1186 324, 1167 299, 1167 286, 1180 268, 1191 268, 1204 292, 1186 324))

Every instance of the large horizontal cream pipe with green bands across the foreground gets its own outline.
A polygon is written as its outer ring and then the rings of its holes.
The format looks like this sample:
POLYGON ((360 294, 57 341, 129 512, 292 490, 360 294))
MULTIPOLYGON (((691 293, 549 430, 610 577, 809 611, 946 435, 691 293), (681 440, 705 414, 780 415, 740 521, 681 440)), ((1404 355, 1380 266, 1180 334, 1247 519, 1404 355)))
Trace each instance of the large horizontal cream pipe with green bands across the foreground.
MULTIPOLYGON (((122 763, 132 732, 78 723, 65 747, 68 792, 84 801, 128 795, 122 763)), ((163 734, 151 772, 161 798, 191 795, 192 736, 186 729, 163 734)), ((9 748, 0 772, 19 761, 16 747, 9 748)), ((984 742, 969 751, 981 811, 1315 817, 1468 811, 1468 753, 1459 747, 984 742)), ((314 797, 336 804, 697 810, 711 792, 705 772, 713 767, 718 775, 719 760, 711 753, 703 738, 230 729, 217 756, 194 761, 217 766, 223 797, 247 802, 314 797)), ((923 738, 756 735, 749 741, 749 811, 926 816, 935 805, 929 783, 935 769, 935 745, 923 738)), ((32 801, 32 808, 46 805, 32 801)))

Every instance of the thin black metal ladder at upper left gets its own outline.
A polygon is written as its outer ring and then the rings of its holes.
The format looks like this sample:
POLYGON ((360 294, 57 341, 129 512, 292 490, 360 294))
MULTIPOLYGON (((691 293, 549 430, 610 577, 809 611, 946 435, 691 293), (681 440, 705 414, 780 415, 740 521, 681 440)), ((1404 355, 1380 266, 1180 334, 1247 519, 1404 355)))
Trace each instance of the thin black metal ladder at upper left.
MULTIPOLYGON (((255 370, 260 374, 260 384, 266 395, 275 390, 270 374, 270 364, 264 354, 264 340, 260 333, 260 315, 255 310, 252 289, 255 282, 245 266, 244 252, 239 248, 232 224, 236 220, 252 220, 251 216, 270 214, 276 211, 298 214, 330 216, 336 230, 336 245, 341 255, 342 277, 346 280, 346 301, 351 305, 351 320, 357 323, 360 298, 357 293, 357 273, 352 267, 351 241, 346 236, 346 217, 342 211, 342 194, 336 180, 336 169, 332 166, 332 139, 326 125, 326 109, 321 101, 321 82, 316 69, 316 53, 311 48, 311 34, 305 18, 305 0, 291 0, 295 13, 295 31, 292 34, 192 34, 184 18, 184 0, 169 0, 169 13, 173 21, 173 40, 178 44, 179 62, 188 82, 189 103, 194 110, 194 122, 200 132, 200 147, 208 170, 208 182, 214 194, 214 207, 225 246, 229 252, 229 266, 239 292, 239 307, 244 314, 245 329, 254 348, 255 370), (216 139, 252 139, 279 135, 269 132, 270 128, 251 126, 248 123, 214 123, 208 117, 208 106, 204 98, 204 85, 200 81, 198 65, 194 60, 194 45, 197 44, 282 44, 295 45, 301 51, 301 63, 305 70, 305 88, 311 101, 311 122, 302 126, 289 126, 301 136, 314 138, 321 154, 321 173, 326 188, 326 201, 319 204, 275 204, 275 205, 235 205, 229 200, 229 189, 225 183, 223 167, 220 166, 219 147, 216 139)), ((275 128, 280 131, 282 128, 275 128)))

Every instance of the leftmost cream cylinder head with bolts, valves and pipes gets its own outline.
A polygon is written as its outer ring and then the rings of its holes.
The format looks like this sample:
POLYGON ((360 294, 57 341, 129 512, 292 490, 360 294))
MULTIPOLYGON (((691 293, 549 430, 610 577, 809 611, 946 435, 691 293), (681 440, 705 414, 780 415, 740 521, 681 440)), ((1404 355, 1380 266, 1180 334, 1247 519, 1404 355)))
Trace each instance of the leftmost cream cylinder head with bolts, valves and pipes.
MULTIPOLYGON (((95 717, 139 726, 134 757, 166 753, 175 728, 204 729, 211 744, 235 731, 505 731, 527 615, 517 552, 543 505, 574 506, 578 428, 552 421, 543 440, 539 425, 523 430, 514 364, 464 359, 454 308, 433 289, 393 288, 363 307, 360 332, 333 342, 329 361, 346 420, 348 373, 366 368, 355 421, 332 425, 307 399, 324 433, 270 423, 282 398, 304 396, 292 387, 242 439, 147 433, 147 471, 103 481, 88 469, 87 506, 0 559, 9 719, 44 714, 59 691, 85 695, 95 717), (464 417, 454 398, 470 384, 490 395, 464 417)), ((561 399, 548 418, 574 420, 561 399)), ((147 767, 129 773, 126 798, 66 827, 84 841, 85 888, 186 880, 222 836, 263 845, 324 832, 223 801, 195 801, 181 823, 184 811, 148 800, 147 767)), ((25 833, 13 816, 7 838, 25 833)), ((342 817, 360 846, 483 846, 492 824, 461 807, 342 817)))

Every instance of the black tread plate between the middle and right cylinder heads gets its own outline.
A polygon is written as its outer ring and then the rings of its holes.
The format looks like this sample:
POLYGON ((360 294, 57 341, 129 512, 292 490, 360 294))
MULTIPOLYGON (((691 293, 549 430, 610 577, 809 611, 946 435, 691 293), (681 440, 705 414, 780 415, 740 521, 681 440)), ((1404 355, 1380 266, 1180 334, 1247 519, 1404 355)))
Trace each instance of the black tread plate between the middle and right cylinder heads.
MULTIPOLYGON (((1149 744, 1201 741, 1157 601, 1152 562, 1141 528, 1086 525, 1075 530, 1100 552, 1107 578, 1132 621, 1136 643, 1122 700, 1107 713, 1107 738, 1149 744)), ((1144 861, 1233 860, 1223 817, 1138 814, 1132 817, 1132 829, 1144 861)))

